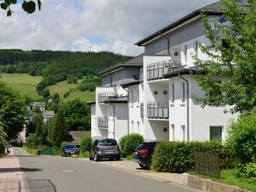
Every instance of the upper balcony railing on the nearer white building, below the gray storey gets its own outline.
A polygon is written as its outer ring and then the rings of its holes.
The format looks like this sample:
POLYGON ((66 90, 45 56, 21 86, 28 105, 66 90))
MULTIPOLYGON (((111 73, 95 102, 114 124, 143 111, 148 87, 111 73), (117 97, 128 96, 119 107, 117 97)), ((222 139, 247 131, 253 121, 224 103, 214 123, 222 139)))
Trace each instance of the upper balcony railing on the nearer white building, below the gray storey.
POLYGON ((147 67, 147 80, 159 80, 170 71, 182 67, 180 62, 166 61, 149 64, 147 67))

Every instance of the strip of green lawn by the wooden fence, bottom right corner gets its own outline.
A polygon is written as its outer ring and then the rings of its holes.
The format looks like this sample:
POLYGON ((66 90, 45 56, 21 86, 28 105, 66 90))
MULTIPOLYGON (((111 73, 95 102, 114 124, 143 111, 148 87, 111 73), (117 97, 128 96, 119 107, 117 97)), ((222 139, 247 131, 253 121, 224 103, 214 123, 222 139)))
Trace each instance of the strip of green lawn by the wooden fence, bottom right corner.
MULTIPOLYGON (((195 174, 194 172, 190 172, 193 175, 198 175, 195 174)), ((214 177, 207 177, 203 175, 198 175, 199 177, 205 177, 205 178, 210 178, 211 180, 214 180, 216 182, 221 182, 221 183, 227 183, 229 185, 235 185, 241 189, 248 189, 251 191, 256 192, 256 184, 252 183, 247 183, 247 181, 235 177, 235 169, 227 169, 227 170, 221 170, 221 178, 216 179, 214 177)))

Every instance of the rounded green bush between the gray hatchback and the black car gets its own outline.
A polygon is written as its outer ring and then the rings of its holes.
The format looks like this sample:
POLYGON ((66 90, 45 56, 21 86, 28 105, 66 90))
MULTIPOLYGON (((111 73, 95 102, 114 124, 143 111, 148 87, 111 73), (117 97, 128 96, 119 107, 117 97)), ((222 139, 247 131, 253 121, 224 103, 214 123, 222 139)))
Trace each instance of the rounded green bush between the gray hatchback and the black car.
POLYGON ((135 151, 135 148, 143 141, 144 140, 142 135, 131 134, 123 136, 119 141, 122 155, 124 157, 127 155, 131 155, 135 151))

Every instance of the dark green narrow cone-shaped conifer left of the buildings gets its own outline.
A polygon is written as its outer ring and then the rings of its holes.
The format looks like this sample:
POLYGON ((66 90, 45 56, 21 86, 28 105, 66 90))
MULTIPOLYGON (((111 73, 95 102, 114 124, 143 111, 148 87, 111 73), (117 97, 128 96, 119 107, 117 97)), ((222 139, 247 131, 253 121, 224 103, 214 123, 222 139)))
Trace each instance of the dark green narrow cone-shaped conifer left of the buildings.
POLYGON ((64 111, 60 109, 52 128, 52 144, 60 147, 62 141, 66 141, 69 135, 68 127, 64 119, 64 111))

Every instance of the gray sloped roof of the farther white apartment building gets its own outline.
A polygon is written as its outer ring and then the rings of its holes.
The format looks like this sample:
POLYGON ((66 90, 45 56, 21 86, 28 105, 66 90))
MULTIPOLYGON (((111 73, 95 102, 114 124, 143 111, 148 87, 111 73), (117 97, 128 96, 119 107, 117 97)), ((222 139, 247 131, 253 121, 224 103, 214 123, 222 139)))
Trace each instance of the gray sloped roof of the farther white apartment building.
POLYGON ((107 73, 110 73, 115 69, 120 69, 123 67, 139 67, 139 68, 143 67, 143 54, 137 57, 134 57, 125 63, 117 63, 106 69, 103 69, 98 73, 98 75, 106 75, 107 73))

